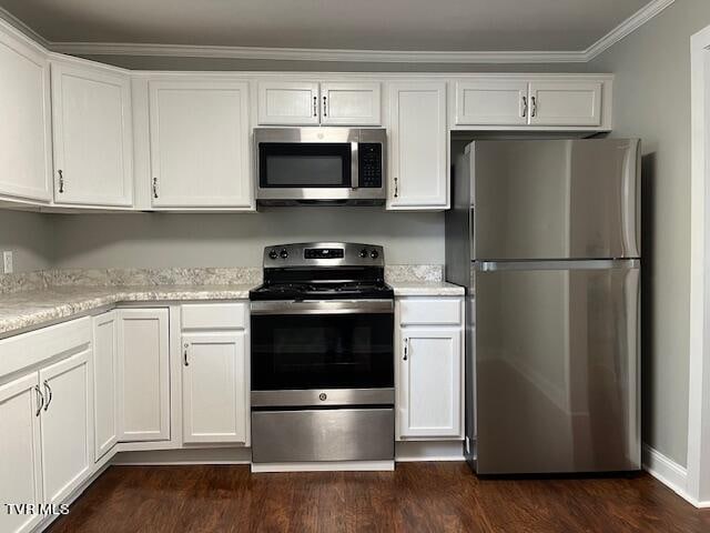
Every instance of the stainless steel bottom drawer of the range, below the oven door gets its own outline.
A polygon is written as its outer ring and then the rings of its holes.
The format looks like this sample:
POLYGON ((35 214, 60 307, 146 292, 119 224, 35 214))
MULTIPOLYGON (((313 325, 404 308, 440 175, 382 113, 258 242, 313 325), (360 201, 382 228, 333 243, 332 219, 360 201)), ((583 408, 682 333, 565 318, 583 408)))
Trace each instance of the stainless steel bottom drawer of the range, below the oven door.
POLYGON ((394 408, 252 411, 252 461, 384 461, 395 456, 394 408))

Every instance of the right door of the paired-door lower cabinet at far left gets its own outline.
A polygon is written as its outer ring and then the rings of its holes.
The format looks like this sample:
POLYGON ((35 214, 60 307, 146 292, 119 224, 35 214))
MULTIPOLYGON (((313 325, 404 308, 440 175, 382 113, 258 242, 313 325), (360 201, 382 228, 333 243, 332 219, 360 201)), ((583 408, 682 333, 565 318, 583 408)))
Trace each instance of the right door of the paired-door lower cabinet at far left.
POLYGON ((93 466, 90 355, 85 350, 40 370, 44 503, 62 502, 93 466))

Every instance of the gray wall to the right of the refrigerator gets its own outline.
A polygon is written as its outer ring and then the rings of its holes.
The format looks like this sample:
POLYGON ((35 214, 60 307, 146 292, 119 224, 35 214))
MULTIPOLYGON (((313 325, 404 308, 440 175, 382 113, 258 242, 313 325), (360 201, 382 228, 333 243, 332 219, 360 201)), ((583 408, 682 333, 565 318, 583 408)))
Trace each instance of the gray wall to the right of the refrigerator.
POLYGON ((688 447, 690 36, 708 0, 678 0, 589 63, 616 73, 615 132, 643 141, 643 440, 681 465, 688 447))

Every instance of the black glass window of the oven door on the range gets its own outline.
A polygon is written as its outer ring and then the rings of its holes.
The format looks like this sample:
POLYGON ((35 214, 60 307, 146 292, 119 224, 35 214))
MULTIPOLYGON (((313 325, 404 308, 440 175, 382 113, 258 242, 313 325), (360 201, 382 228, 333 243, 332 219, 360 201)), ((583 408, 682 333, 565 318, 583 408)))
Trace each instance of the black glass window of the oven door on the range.
POLYGON ((394 386, 392 314, 252 316, 252 390, 394 386))

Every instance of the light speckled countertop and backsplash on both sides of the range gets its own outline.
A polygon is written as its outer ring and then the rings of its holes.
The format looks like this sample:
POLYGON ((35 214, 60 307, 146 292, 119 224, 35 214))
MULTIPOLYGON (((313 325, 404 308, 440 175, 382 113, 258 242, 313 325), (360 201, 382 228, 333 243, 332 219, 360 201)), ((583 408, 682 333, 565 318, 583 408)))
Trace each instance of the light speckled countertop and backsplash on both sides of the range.
MULTIPOLYGON (((396 296, 462 295, 442 265, 388 265, 396 296)), ((0 276, 0 339, 92 314, 121 302, 246 300, 255 268, 73 269, 0 276)))

